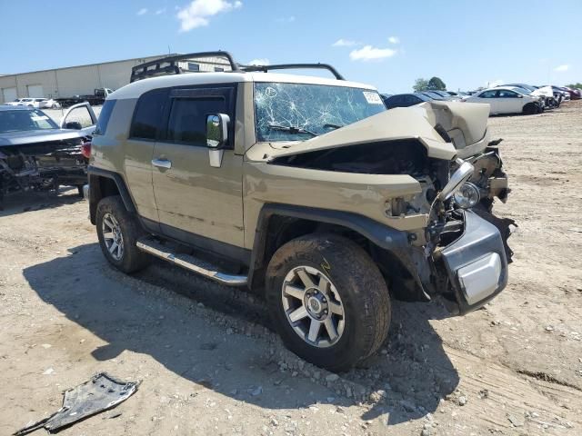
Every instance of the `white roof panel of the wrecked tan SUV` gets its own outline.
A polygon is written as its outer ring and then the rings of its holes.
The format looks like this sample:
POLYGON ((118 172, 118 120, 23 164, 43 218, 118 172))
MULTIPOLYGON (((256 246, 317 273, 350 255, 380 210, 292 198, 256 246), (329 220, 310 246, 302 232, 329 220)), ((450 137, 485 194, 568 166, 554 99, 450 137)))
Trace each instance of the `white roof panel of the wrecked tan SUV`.
POLYGON ((336 80, 312 75, 278 74, 278 73, 185 73, 151 77, 126 84, 107 99, 122 100, 138 98, 151 89, 166 88, 188 84, 232 84, 238 82, 278 82, 286 84, 326 84, 329 86, 348 86, 376 91, 369 84, 358 84, 346 80, 336 80))

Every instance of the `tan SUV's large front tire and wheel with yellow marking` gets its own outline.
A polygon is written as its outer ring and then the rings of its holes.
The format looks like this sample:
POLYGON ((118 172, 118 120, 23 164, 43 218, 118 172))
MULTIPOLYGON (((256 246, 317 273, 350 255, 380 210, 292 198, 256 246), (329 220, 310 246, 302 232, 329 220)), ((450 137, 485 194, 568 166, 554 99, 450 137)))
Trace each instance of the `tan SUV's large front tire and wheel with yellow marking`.
POLYGON ((376 264, 359 245, 335 234, 302 236, 276 251, 266 271, 266 304, 286 347, 334 372, 346 371, 376 352, 390 324, 390 298, 376 264), (314 284, 322 277, 328 281, 326 292, 314 293, 300 276, 305 273, 314 284), (284 286, 295 295, 284 292, 284 286), (321 296, 324 293, 327 298, 321 296), (320 314, 312 312, 314 299, 321 299, 320 308, 324 303, 328 307, 322 315, 325 322, 320 323, 321 340, 317 336, 316 342, 308 341, 314 316, 320 314), (301 307, 307 316, 292 325, 288 314, 301 307), (342 315, 336 313, 338 307, 342 315), (326 324, 329 316, 335 339, 326 324))

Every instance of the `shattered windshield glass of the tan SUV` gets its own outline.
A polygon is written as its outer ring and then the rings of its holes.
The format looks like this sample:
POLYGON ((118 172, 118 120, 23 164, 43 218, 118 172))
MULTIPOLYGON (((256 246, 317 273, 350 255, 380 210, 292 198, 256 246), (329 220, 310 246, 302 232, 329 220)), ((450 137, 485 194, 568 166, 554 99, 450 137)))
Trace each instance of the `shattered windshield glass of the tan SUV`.
POLYGON ((304 141, 386 111, 376 91, 325 84, 255 84, 256 139, 304 141))

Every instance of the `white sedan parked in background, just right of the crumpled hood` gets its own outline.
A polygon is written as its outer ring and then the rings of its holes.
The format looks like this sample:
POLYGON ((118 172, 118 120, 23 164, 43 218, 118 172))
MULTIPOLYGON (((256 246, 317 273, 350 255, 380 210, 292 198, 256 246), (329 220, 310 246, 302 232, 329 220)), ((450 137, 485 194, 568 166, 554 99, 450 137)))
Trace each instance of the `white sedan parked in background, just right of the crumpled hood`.
POLYGON ((524 94, 517 87, 485 89, 463 99, 468 103, 489 104, 489 114, 539 114, 543 103, 539 96, 524 94))

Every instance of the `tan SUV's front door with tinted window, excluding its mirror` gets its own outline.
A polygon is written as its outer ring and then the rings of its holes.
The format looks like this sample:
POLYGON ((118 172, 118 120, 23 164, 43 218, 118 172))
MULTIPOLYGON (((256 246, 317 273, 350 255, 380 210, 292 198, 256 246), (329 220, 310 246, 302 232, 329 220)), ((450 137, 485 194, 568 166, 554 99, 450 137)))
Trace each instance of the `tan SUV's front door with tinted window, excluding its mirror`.
POLYGON ((152 160, 162 233, 220 253, 244 245, 243 156, 234 154, 233 146, 235 96, 232 84, 170 91, 166 131, 152 160), (232 120, 219 167, 209 163, 208 114, 227 114, 232 120))

